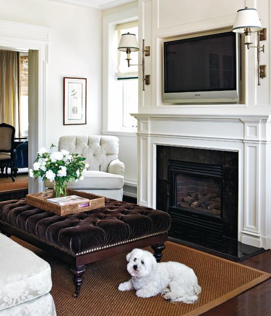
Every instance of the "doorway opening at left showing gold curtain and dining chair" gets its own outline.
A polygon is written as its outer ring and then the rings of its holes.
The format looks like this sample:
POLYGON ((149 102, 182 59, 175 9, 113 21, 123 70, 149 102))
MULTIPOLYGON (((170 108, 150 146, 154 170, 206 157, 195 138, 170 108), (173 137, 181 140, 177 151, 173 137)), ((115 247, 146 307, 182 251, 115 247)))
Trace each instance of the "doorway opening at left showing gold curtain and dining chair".
POLYGON ((0 192, 25 190, 28 188, 28 51, 0 47, 0 56, 0 123, 15 128, 14 178, 11 176, 10 164, 8 170, 5 170, 5 164, 1 163, 0 192))

